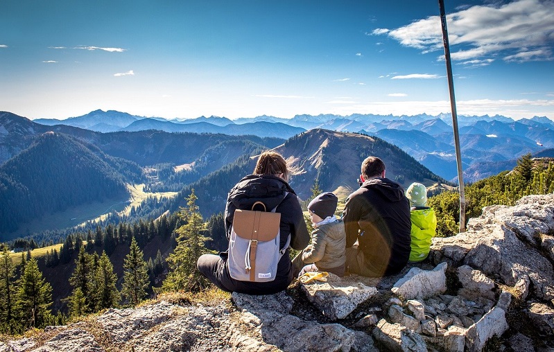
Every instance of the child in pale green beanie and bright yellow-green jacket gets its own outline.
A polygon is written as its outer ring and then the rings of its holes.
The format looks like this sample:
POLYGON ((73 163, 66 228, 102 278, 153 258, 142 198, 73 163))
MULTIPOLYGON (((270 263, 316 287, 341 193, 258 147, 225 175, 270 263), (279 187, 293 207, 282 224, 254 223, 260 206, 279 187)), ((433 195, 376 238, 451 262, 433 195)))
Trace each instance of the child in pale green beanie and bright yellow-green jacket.
POLYGON ((435 211, 427 206, 427 188, 414 182, 406 190, 406 197, 410 201, 410 219, 412 220, 412 248, 410 263, 423 261, 429 255, 431 238, 435 237, 437 218, 435 211))

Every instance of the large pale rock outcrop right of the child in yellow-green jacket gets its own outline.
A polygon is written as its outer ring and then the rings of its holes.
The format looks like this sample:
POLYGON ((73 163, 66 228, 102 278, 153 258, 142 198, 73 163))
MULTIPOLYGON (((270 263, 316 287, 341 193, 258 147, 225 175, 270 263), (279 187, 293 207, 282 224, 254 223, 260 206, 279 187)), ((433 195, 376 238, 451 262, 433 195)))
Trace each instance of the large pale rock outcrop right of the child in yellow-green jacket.
POLYGON ((521 290, 525 299, 532 283, 540 299, 554 299, 554 271, 537 245, 554 231, 554 194, 528 195, 515 206, 487 206, 483 215, 469 220, 467 232, 434 238, 435 263, 454 267, 467 264, 505 285, 521 290), (544 238, 544 236, 543 236, 544 238))

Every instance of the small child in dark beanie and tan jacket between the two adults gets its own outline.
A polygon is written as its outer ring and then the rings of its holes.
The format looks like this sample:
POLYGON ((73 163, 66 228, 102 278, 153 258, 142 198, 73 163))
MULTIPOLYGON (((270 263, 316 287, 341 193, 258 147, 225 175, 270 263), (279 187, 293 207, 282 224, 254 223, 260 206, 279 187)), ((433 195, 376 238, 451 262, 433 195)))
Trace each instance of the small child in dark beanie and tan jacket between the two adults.
POLYGON ((316 271, 344 276, 346 233, 343 220, 335 216, 337 202, 336 195, 325 192, 308 204, 314 230, 311 233, 311 245, 293 259, 295 270, 300 270, 299 276, 304 272, 316 271))

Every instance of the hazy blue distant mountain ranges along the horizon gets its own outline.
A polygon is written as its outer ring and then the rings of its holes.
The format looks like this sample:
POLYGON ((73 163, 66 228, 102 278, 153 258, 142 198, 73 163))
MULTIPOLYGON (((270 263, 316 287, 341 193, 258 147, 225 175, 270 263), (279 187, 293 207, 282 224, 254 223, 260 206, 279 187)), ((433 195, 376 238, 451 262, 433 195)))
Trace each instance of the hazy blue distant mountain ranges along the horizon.
MULTIPOLYGON (((457 182, 457 166, 450 114, 431 116, 393 116, 374 114, 297 115, 293 118, 257 116, 231 120, 218 116, 167 120, 159 117, 133 116, 123 112, 96 110, 67 118, 37 119, 43 125, 68 125, 96 132, 161 130, 164 132, 252 134, 259 137, 287 139, 306 130, 323 128, 339 132, 358 132, 384 139, 398 146, 444 179, 457 182)), ((528 152, 554 148, 554 121, 545 116, 514 121, 505 116, 458 116, 460 148, 466 182, 476 182, 496 170, 491 164, 506 162, 514 166, 516 159, 528 152), (471 168, 479 163, 479 170, 471 168), (481 173, 482 172, 482 173, 481 173), (482 176, 483 175, 483 176, 482 176)), ((551 154, 551 152, 548 152, 551 154)))

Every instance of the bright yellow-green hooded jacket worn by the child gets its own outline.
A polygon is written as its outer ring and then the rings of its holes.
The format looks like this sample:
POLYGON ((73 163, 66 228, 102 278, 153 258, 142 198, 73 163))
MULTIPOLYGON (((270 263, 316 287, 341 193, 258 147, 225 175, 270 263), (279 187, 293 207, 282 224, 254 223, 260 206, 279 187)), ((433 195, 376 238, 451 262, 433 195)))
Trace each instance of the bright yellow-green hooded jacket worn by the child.
POLYGON ((429 207, 415 208, 410 211, 410 220, 412 221, 410 262, 423 261, 429 255, 431 238, 435 237, 437 230, 435 211, 429 207))

